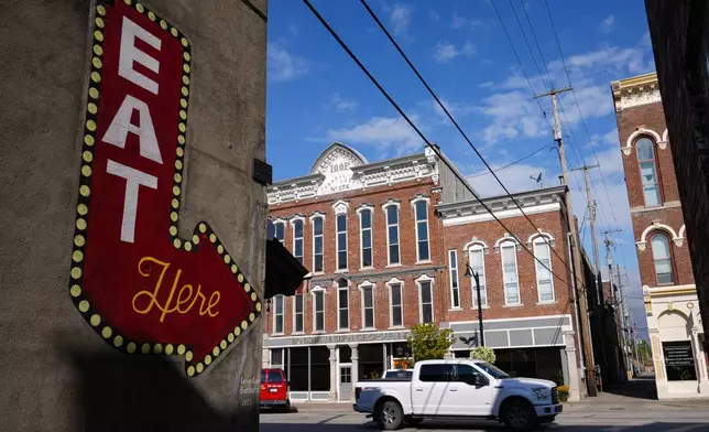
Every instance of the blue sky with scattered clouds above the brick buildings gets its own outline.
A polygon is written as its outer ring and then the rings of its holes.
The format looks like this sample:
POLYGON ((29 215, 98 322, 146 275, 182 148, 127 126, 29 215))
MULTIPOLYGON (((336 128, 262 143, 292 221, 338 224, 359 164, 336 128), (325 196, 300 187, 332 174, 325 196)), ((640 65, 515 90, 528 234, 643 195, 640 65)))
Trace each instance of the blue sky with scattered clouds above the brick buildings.
MULTIPOLYGON (((482 195, 499 194, 479 158, 444 118, 423 85, 357 0, 312 0, 350 48, 430 141, 469 176, 482 195)), ((560 97, 569 168, 592 170, 599 230, 613 234, 615 262, 626 267, 625 295, 639 328, 645 328, 640 278, 628 206, 610 82, 654 71, 644 2, 548 0, 564 60, 575 88, 560 97), (579 115, 579 109, 582 116, 579 115), (583 120, 583 121, 582 121, 583 120), (586 123, 586 127, 583 126, 586 123), (588 131, 588 133, 587 133, 588 131)), ((495 0, 522 66, 490 0, 370 0, 412 62, 493 169, 544 145, 554 147, 549 100, 532 95, 549 82, 569 84, 544 0, 495 0), (515 18, 516 12, 520 20, 515 18), (527 21, 528 17, 528 21, 527 21), (537 44, 530 30, 534 30, 537 44), (523 37, 526 35, 532 52, 523 37), (542 55, 539 55, 539 51, 542 55), (544 58, 544 62, 542 61, 544 58), (536 64, 535 64, 536 63, 536 64), (548 69, 548 74, 547 74, 548 69), (550 77, 550 79, 549 79, 550 77)), ((423 142, 301 1, 269 3, 266 90, 268 161, 274 179, 307 174, 332 141, 370 161, 422 151, 423 142)), ((548 99, 548 98, 546 98, 548 99)), ((544 149, 498 175, 511 191, 558 184, 557 153, 544 149)), ((586 213, 583 179, 571 177, 575 213, 586 213)), ((583 241, 592 255, 588 222, 583 241)), ((602 244, 601 244, 602 247, 602 244)), ((601 264, 604 266, 604 250, 601 264)), ((625 282, 625 280, 624 280, 625 282)))

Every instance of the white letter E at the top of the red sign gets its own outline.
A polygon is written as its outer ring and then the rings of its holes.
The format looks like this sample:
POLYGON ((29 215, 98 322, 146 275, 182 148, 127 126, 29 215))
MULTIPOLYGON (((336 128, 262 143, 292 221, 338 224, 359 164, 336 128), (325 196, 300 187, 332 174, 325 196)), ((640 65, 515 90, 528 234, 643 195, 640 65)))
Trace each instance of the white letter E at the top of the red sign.
POLYGON ((128 17, 123 17, 123 28, 121 29, 121 53, 118 57, 118 75, 143 87, 148 91, 157 95, 157 83, 133 68, 133 62, 135 62, 148 67, 155 74, 160 71, 160 63, 154 57, 151 57, 135 47, 137 37, 160 51, 162 43, 160 39, 129 20, 128 17))

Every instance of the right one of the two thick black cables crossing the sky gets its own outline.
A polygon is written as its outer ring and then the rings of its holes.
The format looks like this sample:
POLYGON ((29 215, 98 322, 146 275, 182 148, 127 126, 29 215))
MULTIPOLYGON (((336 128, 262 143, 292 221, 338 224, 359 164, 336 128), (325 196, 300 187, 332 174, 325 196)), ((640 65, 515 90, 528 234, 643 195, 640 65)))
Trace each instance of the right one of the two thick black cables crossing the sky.
MULTIPOLYGON (((404 61, 406 62, 406 64, 408 65, 408 67, 414 72, 414 74, 416 75, 416 77, 418 78, 418 80, 421 80, 421 83, 424 85, 424 87, 426 87, 426 89, 428 90, 428 93, 430 94, 430 96, 436 100, 436 102, 438 104, 438 106, 440 107, 440 109, 443 109, 443 111, 446 114, 446 116, 448 117, 448 119, 450 120, 450 122, 456 127, 456 129, 458 130, 458 132, 460 132, 460 134, 462 136, 462 138, 466 140, 466 142, 468 142, 468 144, 469 144, 469 145, 470 145, 470 148, 476 152, 476 154, 478 155, 478 158, 480 158, 480 161, 486 165, 486 168, 488 169, 488 171, 490 171, 490 173, 492 174, 492 176, 494 177, 494 180, 500 184, 500 186, 502 186, 502 190, 505 192, 505 194, 506 194, 506 195, 512 199, 512 202, 516 205, 516 207, 517 207, 517 208, 520 209, 520 212, 522 213, 522 216, 524 216, 524 218, 525 218, 525 219, 527 219, 527 222, 530 223, 530 225, 532 225, 532 227, 533 227, 536 231, 539 231, 539 228, 534 224, 534 222, 532 222, 532 219, 531 219, 531 218, 530 218, 530 216, 524 212, 524 209, 522 208, 522 206, 520 205, 520 203, 517 202, 517 199, 512 195, 512 193, 510 193, 510 191, 509 191, 509 190, 508 190, 508 187, 502 183, 502 181, 500 180, 500 177, 498 177, 498 174, 495 174, 495 173, 494 173, 494 171, 492 170, 492 168, 490 166, 490 164, 488 163, 488 161, 486 161, 486 159, 482 156, 482 154, 480 153, 480 151, 478 151, 478 149, 477 149, 477 148, 476 148, 476 145, 472 143, 472 141, 470 140, 470 138, 468 138, 468 134, 462 130, 462 128, 460 127, 460 125, 458 125, 458 122, 456 121, 456 119, 454 119, 454 118, 452 118, 452 115, 450 114, 450 111, 448 111, 448 108, 443 104, 443 101, 440 100, 440 98, 438 97, 438 95, 436 95, 436 93, 433 90, 433 88, 430 88, 430 86, 428 85, 428 83, 426 82, 426 79, 424 79, 424 77, 421 75, 421 73, 419 73, 419 72, 418 72, 418 69, 416 68, 416 66, 414 66, 414 64, 411 62, 411 60, 408 58, 408 56, 406 55, 406 53, 404 53, 404 51, 403 51, 403 50, 402 50, 402 47, 399 45, 399 43, 396 43, 396 41, 394 40, 394 36, 392 36, 392 34, 389 32, 389 30, 386 30, 386 28, 384 26, 384 24, 382 23, 382 21, 379 19, 379 17, 377 15, 377 13, 374 13, 374 11, 372 10, 372 8, 370 8, 370 7, 369 7, 369 4, 367 3, 367 0, 360 0, 360 3, 362 3, 362 6, 364 7, 364 9, 367 9, 367 12, 369 12, 369 14, 372 17, 372 19, 377 22, 377 24, 379 25, 379 28, 382 30, 382 32, 384 32, 384 34, 386 35, 386 37, 389 39, 389 41, 392 43, 392 45, 394 45, 394 47, 396 48, 396 51, 399 52, 399 54, 401 54, 401 56, 404 58, 404 61)), ((402 111, 402 112, 403 112, 403 111, 402 111)), ((545 118, 546 118, 546 116, 545 116, 545 118)), ((548 120, 548 119, 547 119, 547 120, 548 120)), ((467 183, 467 181, 463 181, 463 182, 465 182, 465 184, 468 184, 468 183, 467 183)), ((472 192, 472 187, 470 187, 470 190, 471 190, 471 192, 472 192)), ((567 193, 568 193, 568 192, 567 192, 567 193)), ((473 195, 475 195, 475 193, 473 193, 473 195)), ((478 196, 476 196, 476 198, 478 198, 478 199, 480 201, 480 198, 479 198, 478 196)), ((487 208, 487 207, 486 207, 486 209, 488 209, 488 212, 490 212, 490 209, 489 209, 489 208, 487 208)), ((490 212, 490 213, 492 214, 492 212, 490 212)), ((557 257, 561 262, 564 262, 564 258, 561 258, 561 256, 560 256, 556 250, 554 250, 554 248, 552 247, 552 244, 549 242, 549 240, 548 240, 546 237, 544 237, 544 236, 543 236, 542 238, 544 239, 544 242, 546 242, 546 245, 548 246, 549 250, 550 250, 554 255, 556 255, 556 257, 557 257)), ((530 255, 532 255, 532 256, 534 257, 534 253, 532 253, 532 251, 530 251, 530 255)), ((534 257, 534 258, 536 259, 536 257, 534 257)), ((537 259, 537 261, 539 261, 539 260, 537 259)), ((542 262, 542 261, 539 261, 539 263, 541 263, 541 262, 542 262)), ((543 266, 544 266, 544 264, 543 264, 543 266)), ((549 269, 547 268, 547 270, 549 270, 549 269)), ((549 271, 550 271, 550 270, 549 270, 549 271)), ((574 272, 572 272, 572 274, 578 279, 578 276, 576 276, 574 272)), ((585 285, 583 285, 583 287, 585 287, 585 285)))

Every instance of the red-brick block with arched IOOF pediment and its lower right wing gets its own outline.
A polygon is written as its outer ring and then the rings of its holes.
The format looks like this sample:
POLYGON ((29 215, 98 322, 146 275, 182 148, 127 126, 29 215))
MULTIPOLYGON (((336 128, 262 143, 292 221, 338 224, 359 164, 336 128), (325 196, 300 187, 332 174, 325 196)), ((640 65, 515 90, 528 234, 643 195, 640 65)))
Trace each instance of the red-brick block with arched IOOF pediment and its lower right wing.
POLYGON ((452 170, 430 149, 369 163, 334 143, 307 175, 270 186, 276 238, 313 272, 296 295, 274 298, 265 317, 264 366, 286 370, 294 401, 350 400, 358 379, 405 366, 417 323, 452 328, 450 355, 469 356, 478 312, 467 264, 481 274, 497 365, 565 381, 579 397, 566 187, 515 195, 539 231, 509 196, 486 198, 505 231, 452 170))

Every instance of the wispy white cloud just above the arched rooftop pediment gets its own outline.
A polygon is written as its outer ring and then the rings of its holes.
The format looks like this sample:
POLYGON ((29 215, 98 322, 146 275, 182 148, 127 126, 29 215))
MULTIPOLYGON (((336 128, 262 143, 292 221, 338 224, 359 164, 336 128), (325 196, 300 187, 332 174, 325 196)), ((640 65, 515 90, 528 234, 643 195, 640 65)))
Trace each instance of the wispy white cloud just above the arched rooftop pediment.
MULTIPOLYGON (((412 121, 422 130, 421 118, 410 116, 412 121)), ((421 137, 401 117, 372 117, 371 119, 351 128, 330 129, 327 131, 328 140, 352 142, 379 147, 381 150, 394 148, 397 154, 405 154, 423 145, 421 137)))

